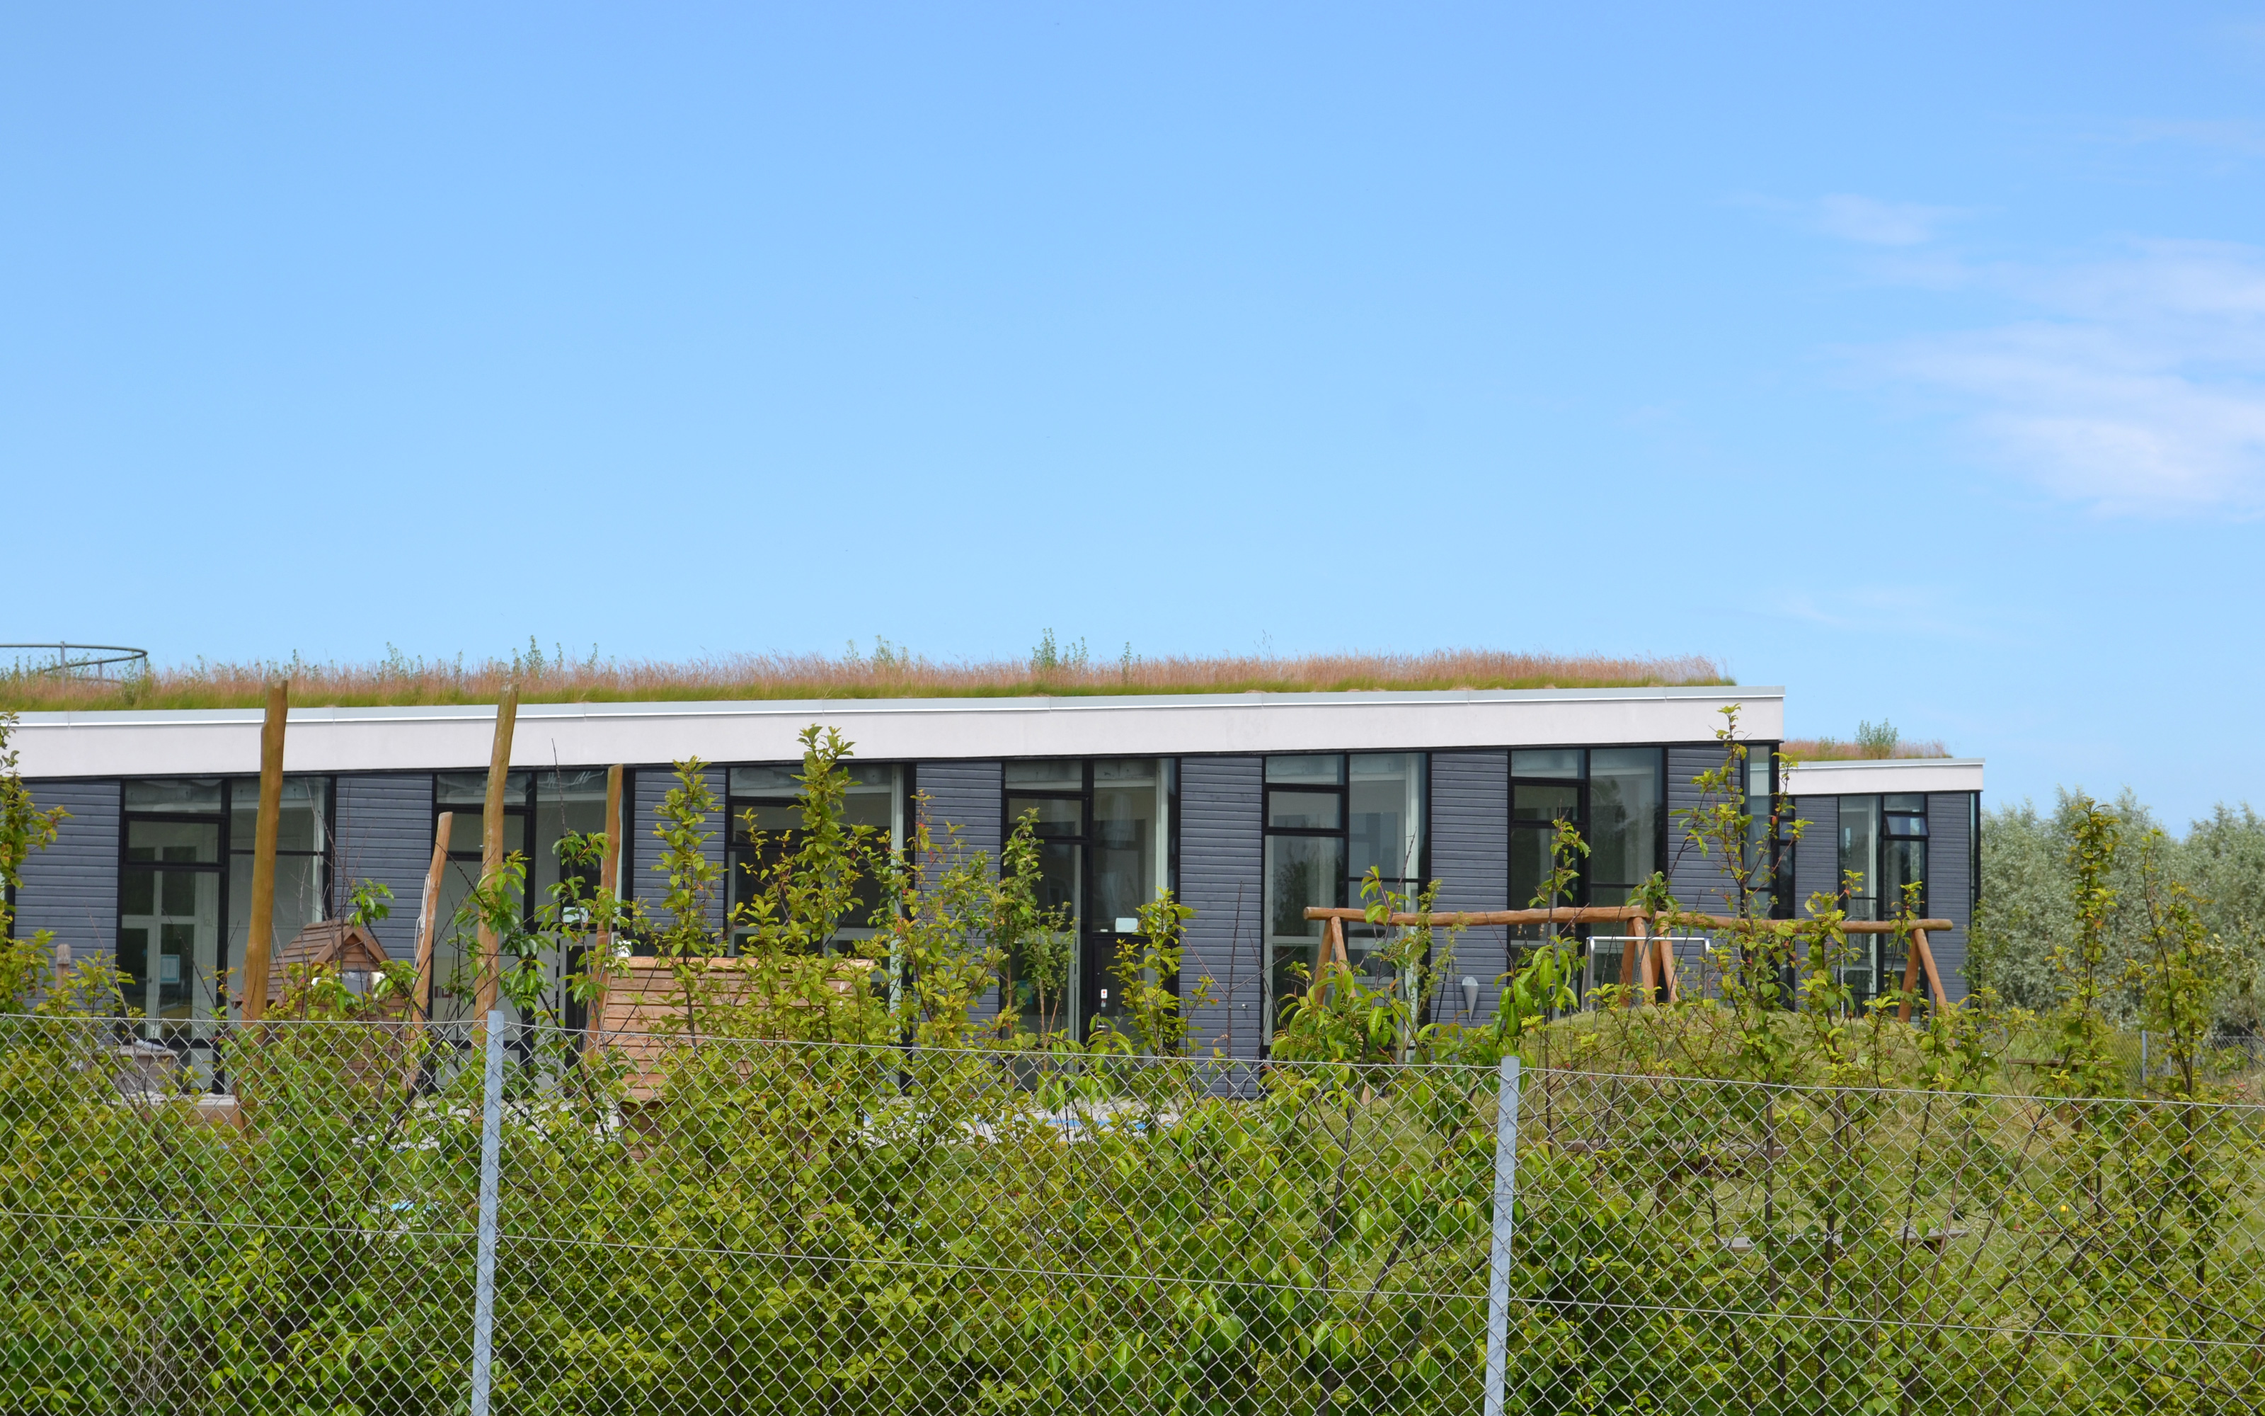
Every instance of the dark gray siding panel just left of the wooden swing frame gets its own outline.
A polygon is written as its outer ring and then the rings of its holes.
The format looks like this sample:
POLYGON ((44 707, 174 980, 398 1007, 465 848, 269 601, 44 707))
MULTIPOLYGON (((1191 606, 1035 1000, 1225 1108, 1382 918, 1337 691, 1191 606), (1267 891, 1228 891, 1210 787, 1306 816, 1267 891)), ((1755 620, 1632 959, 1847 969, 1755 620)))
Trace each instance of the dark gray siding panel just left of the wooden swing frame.
POLYGON ((1189 1008, 1189 1049, 1255 1058, 1266 1042, 1264 759, 1180 759, 1180 902, 1187 922, 1180 976, 1212 1004, 1189 1008))

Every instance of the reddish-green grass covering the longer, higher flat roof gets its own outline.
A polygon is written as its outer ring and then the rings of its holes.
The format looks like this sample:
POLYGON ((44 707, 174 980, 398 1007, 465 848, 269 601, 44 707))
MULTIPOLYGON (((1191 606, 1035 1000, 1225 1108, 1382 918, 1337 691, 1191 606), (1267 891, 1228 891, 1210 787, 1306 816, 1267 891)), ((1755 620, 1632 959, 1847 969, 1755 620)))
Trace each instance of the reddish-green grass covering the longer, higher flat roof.
POLYGON ((711 659, 571 659, 525 655, 467 664, 247 662, 156 668, 131 680, 61 677, 36 664, 0 664, 0 711, 258 707, 270 675, 288 673, 304 707, 408 707, 496 702, 519 682, 521 702, 668 702, 713 698, 1022 698, 1094 693, 1341 693, 1354 689, 1647 689, 1730 684, 1701 655, 1601 657, 1431 650, 1422 655, 1126 655, 1087 657, 1049 632, 1031 659, 938 662, 879 641, 872 655, 723 655, 711 659))

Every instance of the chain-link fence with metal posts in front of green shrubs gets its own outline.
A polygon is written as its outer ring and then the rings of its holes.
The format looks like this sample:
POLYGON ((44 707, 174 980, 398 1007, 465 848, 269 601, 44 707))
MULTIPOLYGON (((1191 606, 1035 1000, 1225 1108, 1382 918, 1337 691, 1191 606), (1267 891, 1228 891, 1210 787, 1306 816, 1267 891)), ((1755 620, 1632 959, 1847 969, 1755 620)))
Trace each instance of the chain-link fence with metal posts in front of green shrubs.
POLYGON ((9 1411, 2265 1409, 2249 1108, 0 1029, 9 1411))

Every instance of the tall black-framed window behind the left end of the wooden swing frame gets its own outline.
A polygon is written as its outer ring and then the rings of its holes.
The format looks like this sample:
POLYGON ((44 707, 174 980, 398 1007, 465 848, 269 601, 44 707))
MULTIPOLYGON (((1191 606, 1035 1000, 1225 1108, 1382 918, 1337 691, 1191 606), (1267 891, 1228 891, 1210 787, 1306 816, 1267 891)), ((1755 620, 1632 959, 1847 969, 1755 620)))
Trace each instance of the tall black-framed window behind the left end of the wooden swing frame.
MULTIPOLYGON (((1266 976, 1268 1017, 1305 988, 1320 961, 1323 922, 1311 906, 1357 904, 1370 868, 1400 895, 1422 888, 1422 752, 1323 752, 1266 759, 1266 976)), ((1345 929, 1359 963, 1382 942, 1366 924, 1345 929)))

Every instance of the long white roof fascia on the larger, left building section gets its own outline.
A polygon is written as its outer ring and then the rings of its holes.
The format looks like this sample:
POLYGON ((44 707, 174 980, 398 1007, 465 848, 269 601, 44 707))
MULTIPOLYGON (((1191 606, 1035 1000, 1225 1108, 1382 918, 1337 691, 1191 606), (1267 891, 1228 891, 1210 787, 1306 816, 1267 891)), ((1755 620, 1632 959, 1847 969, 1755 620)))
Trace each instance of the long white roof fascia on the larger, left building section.
MULTIPOLYGON (((537 702, 519 709, 512 766, 793 761, 811 723, 881 761, 1694 743, 1715 739, 1730 705, 1740 736, 1785 736, 1785 689, 1721 686, 537 702)), ((485 768, 494 723, 492 705, 292 709, 283 770, 485 768)), ((260 709, 23 714, 16 743, 25 777, 256 773, 260 709)))

